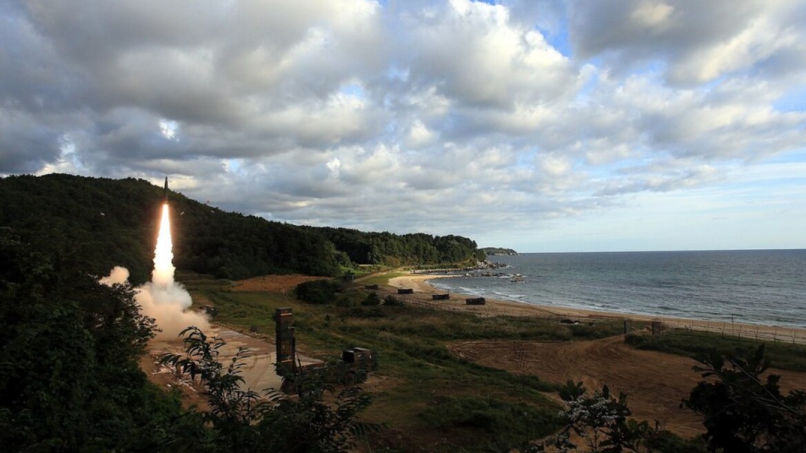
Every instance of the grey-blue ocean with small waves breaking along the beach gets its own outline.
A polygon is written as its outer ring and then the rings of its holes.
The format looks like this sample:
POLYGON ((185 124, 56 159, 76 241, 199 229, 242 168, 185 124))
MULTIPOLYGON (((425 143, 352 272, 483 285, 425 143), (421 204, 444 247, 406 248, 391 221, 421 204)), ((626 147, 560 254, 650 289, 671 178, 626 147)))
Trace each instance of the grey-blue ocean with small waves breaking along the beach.
POLYGON ((429 283, 536 305, 806 328, 804 249, 524 253, 489 260, 506 264, 493 271, 506 275, 429 283))

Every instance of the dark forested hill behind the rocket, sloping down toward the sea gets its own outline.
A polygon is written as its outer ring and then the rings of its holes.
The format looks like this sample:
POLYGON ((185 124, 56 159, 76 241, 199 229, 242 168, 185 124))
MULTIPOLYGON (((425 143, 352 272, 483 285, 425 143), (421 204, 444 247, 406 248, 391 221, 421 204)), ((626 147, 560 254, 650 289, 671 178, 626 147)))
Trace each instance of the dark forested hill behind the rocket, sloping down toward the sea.
MULTIPOLYGON (((483 259, 471 239, 293 226, 228 213, 169 193, 177 268, 240 279, 269 273, 339 275, 356 264, 443 264, 483 259)), ((162 189, 127 178, 0 179, 0 226, 58 244, 96 275, 115 265, 135 284, 152 268, 162 189)))

